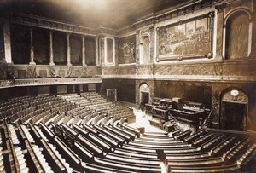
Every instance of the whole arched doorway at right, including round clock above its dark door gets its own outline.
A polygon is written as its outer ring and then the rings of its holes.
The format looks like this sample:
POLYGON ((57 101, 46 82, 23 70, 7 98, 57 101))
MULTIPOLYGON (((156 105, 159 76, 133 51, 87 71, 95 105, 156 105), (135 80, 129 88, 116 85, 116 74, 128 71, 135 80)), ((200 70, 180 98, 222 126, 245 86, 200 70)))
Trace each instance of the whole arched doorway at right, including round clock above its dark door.
POLYGON ((226 89, 221 99, 220 125, 225 130, 247 130, 248 97, 241 89, 226 89))

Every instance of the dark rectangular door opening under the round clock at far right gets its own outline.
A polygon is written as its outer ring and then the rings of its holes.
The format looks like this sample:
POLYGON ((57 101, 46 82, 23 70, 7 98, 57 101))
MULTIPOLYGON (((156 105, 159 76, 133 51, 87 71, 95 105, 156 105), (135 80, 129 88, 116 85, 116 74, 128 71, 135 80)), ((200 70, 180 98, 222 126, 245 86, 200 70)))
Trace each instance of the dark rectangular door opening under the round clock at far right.
POLYGON ((224 102, 224 129, 246 130, 247 104, 224 102))

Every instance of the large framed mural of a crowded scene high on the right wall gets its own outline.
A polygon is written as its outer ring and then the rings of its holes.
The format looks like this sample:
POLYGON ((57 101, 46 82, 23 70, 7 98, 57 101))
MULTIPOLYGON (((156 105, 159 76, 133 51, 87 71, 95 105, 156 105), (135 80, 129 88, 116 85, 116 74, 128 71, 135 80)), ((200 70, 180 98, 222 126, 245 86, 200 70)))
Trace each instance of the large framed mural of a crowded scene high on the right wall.
POLYGON ((212 57, 213 13, 158 28, 158 61, 212 57))

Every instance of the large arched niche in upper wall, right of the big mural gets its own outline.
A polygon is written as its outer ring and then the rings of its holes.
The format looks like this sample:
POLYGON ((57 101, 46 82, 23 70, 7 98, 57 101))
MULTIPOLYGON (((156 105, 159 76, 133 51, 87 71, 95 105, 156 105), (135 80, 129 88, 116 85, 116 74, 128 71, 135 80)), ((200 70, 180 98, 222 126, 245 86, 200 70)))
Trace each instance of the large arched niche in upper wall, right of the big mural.
POLYGON ((224 58, 234 60, 251 53, 251 13, 248 9, 235 9, 224 20, 224 58))

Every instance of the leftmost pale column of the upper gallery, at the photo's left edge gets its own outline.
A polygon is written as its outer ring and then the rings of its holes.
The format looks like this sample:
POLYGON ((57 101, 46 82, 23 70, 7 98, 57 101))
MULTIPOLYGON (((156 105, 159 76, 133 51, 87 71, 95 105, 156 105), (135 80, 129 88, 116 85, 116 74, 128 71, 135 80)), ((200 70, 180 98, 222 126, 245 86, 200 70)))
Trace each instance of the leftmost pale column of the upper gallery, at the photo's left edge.
POLYGON ((12 62, 9 22, 3 24, 4 56, 6 63, 12 62))

